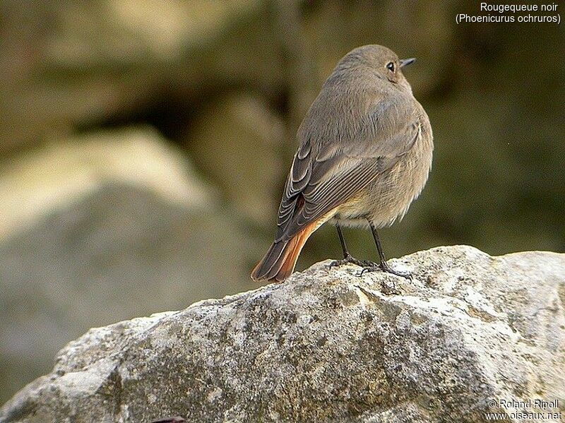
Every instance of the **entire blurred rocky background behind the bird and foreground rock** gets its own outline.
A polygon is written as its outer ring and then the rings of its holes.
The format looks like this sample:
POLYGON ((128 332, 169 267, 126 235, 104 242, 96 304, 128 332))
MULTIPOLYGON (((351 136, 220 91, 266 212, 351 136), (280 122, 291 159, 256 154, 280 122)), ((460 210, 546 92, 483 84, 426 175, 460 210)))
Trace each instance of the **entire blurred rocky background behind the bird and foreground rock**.
MULTIPOLYGON (((406 74, 436 143, 388 255, 564 251, 563 26, 464 12, 476 2, 2 1, 0 403, 91 326, 254 288, 293 135, 362 44, 419 59, 406 74)), ((338 258, 336 238, 316 232, 298 268, 338 258)))

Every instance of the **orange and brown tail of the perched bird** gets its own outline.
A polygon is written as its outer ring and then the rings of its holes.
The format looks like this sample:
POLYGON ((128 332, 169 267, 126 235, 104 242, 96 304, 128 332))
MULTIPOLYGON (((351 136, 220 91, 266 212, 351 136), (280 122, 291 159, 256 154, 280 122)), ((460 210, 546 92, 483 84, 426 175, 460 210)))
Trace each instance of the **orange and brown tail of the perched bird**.
POLYGON ((273 242, 267 254, 251 272, 251 279, 283 282, 295 270, 302 247, 318 227, 319 225, 313 222, 288 241, 273 242))

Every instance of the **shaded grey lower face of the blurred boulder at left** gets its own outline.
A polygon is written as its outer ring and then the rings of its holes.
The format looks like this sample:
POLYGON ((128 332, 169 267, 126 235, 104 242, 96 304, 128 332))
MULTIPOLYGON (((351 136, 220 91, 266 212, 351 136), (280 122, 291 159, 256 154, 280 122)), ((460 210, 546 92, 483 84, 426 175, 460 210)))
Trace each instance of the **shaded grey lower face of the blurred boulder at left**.
POLYGON ((259 254, 228 213, 117 182, 0 242, 0 403, 92 326, 249 290, 259 254))

